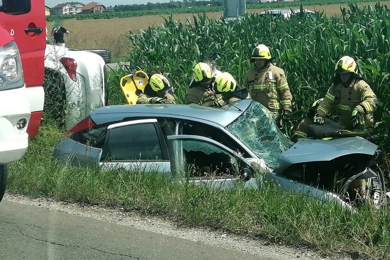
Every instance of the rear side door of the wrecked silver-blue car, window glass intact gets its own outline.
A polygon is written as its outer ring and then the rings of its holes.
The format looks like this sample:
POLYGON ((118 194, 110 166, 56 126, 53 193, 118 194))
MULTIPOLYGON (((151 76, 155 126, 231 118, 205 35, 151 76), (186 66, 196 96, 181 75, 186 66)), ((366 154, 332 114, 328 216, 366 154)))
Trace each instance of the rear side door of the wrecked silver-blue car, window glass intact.
POLYGON ((132 120, 109 125, 100 165, 104 169, 170 174, 167 146, 157 120, 132 120))

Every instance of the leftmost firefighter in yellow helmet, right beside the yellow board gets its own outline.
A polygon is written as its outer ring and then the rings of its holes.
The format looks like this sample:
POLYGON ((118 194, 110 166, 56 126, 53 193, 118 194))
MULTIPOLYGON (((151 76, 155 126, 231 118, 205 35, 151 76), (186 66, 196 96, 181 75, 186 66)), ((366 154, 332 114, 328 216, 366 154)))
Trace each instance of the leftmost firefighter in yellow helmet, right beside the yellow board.
POLYGON ((161 74, 153 74, 144 92, 139 94, 137 104, 175 104, 175 97, 169 94, 170 81, 161 74))

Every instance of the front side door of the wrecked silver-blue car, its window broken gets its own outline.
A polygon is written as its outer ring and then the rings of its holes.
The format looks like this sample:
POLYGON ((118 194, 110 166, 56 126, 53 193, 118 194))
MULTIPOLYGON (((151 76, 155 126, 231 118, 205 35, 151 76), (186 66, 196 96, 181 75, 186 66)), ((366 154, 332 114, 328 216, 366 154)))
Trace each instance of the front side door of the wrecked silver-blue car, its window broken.
MULTIPOLYGON (((173 172, 194 183, 207 183, 214 187, 229 188, 237 180, 246 179, 245 185, 256 186, 258 180, 245 159, 227 146, 207 137, 195 135, 168 136, 172 149, 173 172), (249 173, 249 176, 244 177, 249 173)), ((170 149, 170 151, 171 151, 170 149)))

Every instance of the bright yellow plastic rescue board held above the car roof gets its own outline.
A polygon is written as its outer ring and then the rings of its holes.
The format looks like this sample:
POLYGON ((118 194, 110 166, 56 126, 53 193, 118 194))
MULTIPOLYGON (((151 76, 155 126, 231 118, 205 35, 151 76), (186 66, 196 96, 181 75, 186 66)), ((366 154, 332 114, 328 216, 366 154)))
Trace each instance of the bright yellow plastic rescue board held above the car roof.
POLYGON ((128 104, 135 105, 137 103, 138 95, 143 93, 148 82, 148 74, 142 70, 138 70, 120 79, 120 88, 128 104))

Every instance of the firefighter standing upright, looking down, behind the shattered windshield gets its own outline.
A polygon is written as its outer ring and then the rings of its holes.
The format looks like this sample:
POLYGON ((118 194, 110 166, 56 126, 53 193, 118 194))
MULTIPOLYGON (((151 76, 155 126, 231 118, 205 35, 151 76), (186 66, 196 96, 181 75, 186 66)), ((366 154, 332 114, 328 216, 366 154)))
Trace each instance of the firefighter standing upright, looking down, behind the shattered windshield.
POLYGON ((254 48, 251 68, 243 86, 249 89, 253 100, 260 102, 273 112, 276 122, 287 120, 291 114, 292 95, 283 69, 271 63, 270 49, 264 44, 254 48))

